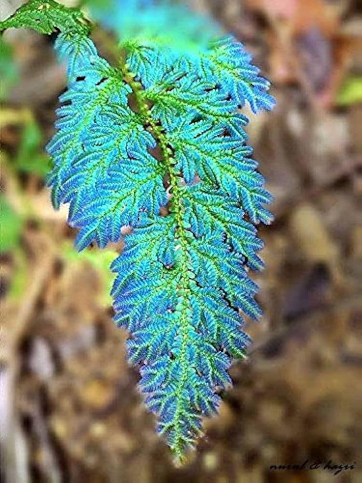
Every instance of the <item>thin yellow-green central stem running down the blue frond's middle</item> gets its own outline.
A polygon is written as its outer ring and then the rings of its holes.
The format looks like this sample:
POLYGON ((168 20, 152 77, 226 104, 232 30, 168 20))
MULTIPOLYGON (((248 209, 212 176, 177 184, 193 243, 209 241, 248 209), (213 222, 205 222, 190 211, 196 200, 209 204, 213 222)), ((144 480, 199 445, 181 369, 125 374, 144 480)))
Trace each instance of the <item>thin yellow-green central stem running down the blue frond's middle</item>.
POLYGON ((182 375, 177 382, 176 395, 177 395, 177 410, 173 420, 173 425, 176 431, 176 444, 174 451, 177 457, 182 457, 182 399, 183 389, 188 377, 189 361, 187 359, 187 345, 188 345, 188 307, 189 307, 189 296, 191 293, 191 277, 189 271, 190 258, 188 254, 188 242, 186 238, 186 230, 184 228, 183 222, 183 191, 184 188, 179 185, 180 173, 175 168, 175 160, 173 158, 173 152, 167 145, 167 138, 158 123, 152 118, 149 106, 147 105, 143 96, 142 85, 134 80, 134 74, 130 73, 127 68, 122 67, 122 72, 124 79, 127 84, 132 89, 137 109, 144 119, 145 125, 147 125, 149 132, 152 134, 157 142, 158 147, 162 155, 161 162, 167 168, 169 175, 169 192, 172 195, 170 204, 171 212, 174 216, 176 229, 175 229, 175 251, 179 250, 178 263, 180 267, 180 279, 177 284, 177 299, 179 301, 178 310, 180 315, 180 333, 181 333, 181 344, 179 353, 177 355, 178 361, 182 368, 182 375))

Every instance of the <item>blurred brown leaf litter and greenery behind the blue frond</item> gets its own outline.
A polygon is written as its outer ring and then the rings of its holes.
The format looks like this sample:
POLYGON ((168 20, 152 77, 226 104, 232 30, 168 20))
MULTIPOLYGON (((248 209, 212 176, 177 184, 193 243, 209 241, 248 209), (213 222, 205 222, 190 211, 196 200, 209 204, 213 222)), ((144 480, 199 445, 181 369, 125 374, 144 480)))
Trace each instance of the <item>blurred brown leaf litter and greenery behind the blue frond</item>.
MULTIPOLYGON (((2 0, 1 19, 20 3, 2 0)), ((247 323, 250 355, 175 468, 112 323, 108 266, 122 246, 76 254, 67 209, 54 211, 44 187, 66 83, 54 38, 7 32, 0 429, 10 482, 362 481, 361 11, 353 0, 192 4, 246 44, 277 98, 248 127, 276 218, 260 227, 266 269, 253 277, 264 315, 247 323), (270 469, 305 460, 321 466, 270 469), (333 476, 329 461, 356 467, 333 476)), ((104 32, 93 38, 107 55, 104 32)))

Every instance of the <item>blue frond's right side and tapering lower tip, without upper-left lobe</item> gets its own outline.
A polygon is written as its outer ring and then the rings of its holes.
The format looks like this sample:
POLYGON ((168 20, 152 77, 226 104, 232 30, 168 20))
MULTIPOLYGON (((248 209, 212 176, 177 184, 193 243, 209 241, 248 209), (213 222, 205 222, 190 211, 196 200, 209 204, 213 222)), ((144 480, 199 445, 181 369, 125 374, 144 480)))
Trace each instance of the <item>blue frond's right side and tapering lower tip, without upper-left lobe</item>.
MULTIPOLYGON (((240 311, 253 318, 261 313, 244 265, 262 266, 256 254, 262 243, 250 221, 270 221, 263 206, 270 195, 245 144, 247 119, 236 110, 246 102, 254 111, 269 109, 272 98, 251 64, 242 87, 231 90, 230 79, 221 83, 211 54, 209 63, 182 57, 172 65, 168 55, 162 62, 158 47, 154 55, 152 72, 146 63, 140 68, 135 50, 127 62, 139 68, 136 78, 144 89, 130 85, 161 148, 170 214, 162 223, 148 216, 134 226, 113 266, 123 271, 126 257, 133 268, 126 269, 127 277, 117 276, 113 293, 116 320, 133 336, 130 357, 141 366, 147 404, 180 457, 199 433, 201 417, 216 411, 217 389, 230 382, 230 358, 245 353, 249 339, 240 311)), ((227 69, 222 73, 229 75, 227 69)))

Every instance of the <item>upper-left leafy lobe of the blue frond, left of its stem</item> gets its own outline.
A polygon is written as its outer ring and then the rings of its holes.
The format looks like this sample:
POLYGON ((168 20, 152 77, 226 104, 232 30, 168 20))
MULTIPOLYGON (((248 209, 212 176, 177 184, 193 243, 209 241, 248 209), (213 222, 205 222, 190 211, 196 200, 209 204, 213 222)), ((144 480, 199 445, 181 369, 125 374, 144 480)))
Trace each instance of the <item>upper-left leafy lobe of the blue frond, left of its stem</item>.
POLYGON ((157 214, 166 203, 165 168, 148 153, 155 140, 127 106, 131 89, 94 55, 92 41, 59 36, 56 48, 72 67, 69 88, 59 98, 58 132, 47 146, 54 161, 47 183, 55 207, 70 203, 68 222, 80 228, 77 248, 92 241, 105 247, 140 211, 157 214))

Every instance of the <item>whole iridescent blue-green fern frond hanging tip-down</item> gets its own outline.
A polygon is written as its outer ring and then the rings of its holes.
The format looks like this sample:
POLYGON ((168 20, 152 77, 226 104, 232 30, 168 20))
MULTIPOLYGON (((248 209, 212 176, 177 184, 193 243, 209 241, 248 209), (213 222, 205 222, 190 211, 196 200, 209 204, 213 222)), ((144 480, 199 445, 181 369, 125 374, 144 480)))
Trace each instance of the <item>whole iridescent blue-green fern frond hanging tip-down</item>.
POLYGON ((47 146, 47 183, 55 207, 69 203, 79 250, 132 229, 112 264, 115 320, 130 333, 146 404, 180 458, 202 417, 217 411, 232 359, 246 353, 242 313, 261 314, 247 270, 262 268, 255 225, 272 220, 271 196, 240 109, 269 110, 274 100, 235 39, 213 39, 214 27, 197 39, 196 21, 183 46, 177 29, 147 28, 151 8, 168 18, 166 0, 116 6, 112 20, 127 6, 136 24, 120 38, 115 67, 84 32, 60 29, 55 49, 68 65, 68 89, 47 146))

